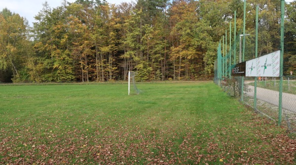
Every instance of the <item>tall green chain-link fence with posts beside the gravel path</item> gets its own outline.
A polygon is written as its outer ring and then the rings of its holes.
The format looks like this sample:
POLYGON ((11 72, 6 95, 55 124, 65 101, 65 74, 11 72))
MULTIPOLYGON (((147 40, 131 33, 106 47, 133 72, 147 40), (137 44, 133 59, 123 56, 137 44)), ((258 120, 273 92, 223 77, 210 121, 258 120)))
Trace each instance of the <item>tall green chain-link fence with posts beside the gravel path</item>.
MULTIPOLYGON (((276 10, 272 14, 279 20, 270 19, 270 13, 264 10, 259 12, 258 57, 281 49, 281 3, 279 1, 275 4, 276 10)), ((289 24, 291 22, 285 23, 285 27, 289 24)), ((241 31, 237 33, 235 39, 232 36, 231 48, 230 44, 225 44, 226 40, 223 40, 224 42, 221 42, 221 46, 218 47, 214 82, 229 95, 239 98, 266 117, 276 122, 281 121, 280 124, 286 125, 291 132, 296 132, 296 30, 285 29, 282 84, 280 84, 280 77, 231 77, 234 64, 256 58, 256 27, 248 28, 245 32, 244 54, 241 31), (283 93, 280 115, 281 85, 283 93)), ((227 39, 230 41, 229 38, 227 39)))

